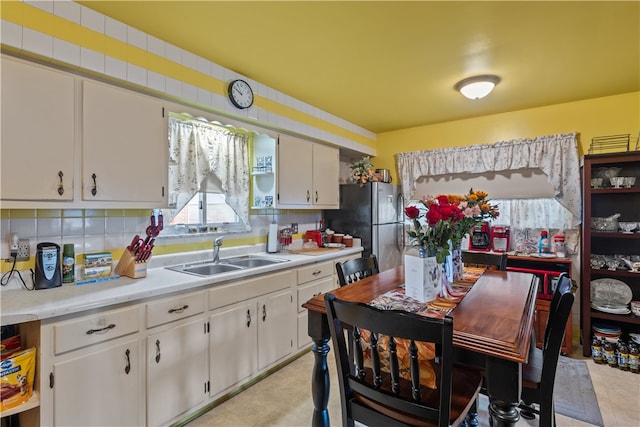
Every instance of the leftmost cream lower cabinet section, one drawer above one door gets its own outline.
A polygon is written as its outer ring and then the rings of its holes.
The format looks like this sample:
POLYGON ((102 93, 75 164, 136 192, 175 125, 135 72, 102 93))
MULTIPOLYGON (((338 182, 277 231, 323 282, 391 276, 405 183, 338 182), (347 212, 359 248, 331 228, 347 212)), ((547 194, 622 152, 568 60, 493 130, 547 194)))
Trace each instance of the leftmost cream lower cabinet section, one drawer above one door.
POLYGON ((41 424, 144 422, 138 306, 41 328, 41 424))

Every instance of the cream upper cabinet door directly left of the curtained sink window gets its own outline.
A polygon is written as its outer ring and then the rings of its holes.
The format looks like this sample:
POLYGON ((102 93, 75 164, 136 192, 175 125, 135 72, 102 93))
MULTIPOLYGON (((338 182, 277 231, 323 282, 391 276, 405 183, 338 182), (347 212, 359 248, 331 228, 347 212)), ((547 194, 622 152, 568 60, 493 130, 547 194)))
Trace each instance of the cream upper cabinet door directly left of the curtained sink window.
POLYGON ((83 200, 166 205, 168 143, 161 101, 91 81, 84 82, 82 99, 83 200))

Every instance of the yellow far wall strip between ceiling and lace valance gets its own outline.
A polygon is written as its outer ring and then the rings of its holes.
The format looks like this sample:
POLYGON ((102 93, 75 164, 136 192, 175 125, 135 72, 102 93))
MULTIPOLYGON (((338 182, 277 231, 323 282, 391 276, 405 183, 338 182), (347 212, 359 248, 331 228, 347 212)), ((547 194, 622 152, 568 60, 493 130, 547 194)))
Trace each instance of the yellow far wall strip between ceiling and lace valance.
POLYGON ((396 153, 571 132, 582 156, 597 136, 631 134, 634 149, 639 131, 640 92, 633 92, 378 134, 374 164, 398 177, 396 153))

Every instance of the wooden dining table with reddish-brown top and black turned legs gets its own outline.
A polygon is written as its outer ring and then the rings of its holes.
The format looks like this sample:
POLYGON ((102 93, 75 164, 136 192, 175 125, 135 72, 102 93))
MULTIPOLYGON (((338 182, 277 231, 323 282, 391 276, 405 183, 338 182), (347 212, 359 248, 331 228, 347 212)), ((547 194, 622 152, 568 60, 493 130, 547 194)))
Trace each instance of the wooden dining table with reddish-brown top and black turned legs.
MULTIPOLYGON (((331 291, 347 301, 371 303, 404 285, 399 266, 331 291)), ((492 426, 513 426, 522 388, 522 364, 527 362, 534 321, 538 279, 530 273, 487 270, 449 313, 453 317, 456 361, 485 369, 492 426)), ((311 393, 313 426, 328 426, 329 324, 324 295, 303 304, 308 310, 314 366, 311 393)), ((473 423, 473 419, 470 420, 473 423)), ((477 422, 477 420, 475 420, 477 422)))

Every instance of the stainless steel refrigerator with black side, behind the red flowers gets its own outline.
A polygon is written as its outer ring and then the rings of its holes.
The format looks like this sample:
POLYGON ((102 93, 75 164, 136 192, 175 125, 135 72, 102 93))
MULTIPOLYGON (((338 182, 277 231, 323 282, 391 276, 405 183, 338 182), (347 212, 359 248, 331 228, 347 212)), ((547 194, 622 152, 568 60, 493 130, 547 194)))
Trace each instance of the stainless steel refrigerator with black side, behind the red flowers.
POLYGON ((375 254, 380 271, 402 264, 404 199, 399 185, 371 182, 340 185, 340 209, 325 210, 324 224, 362 239, 364 256, 375 254))

